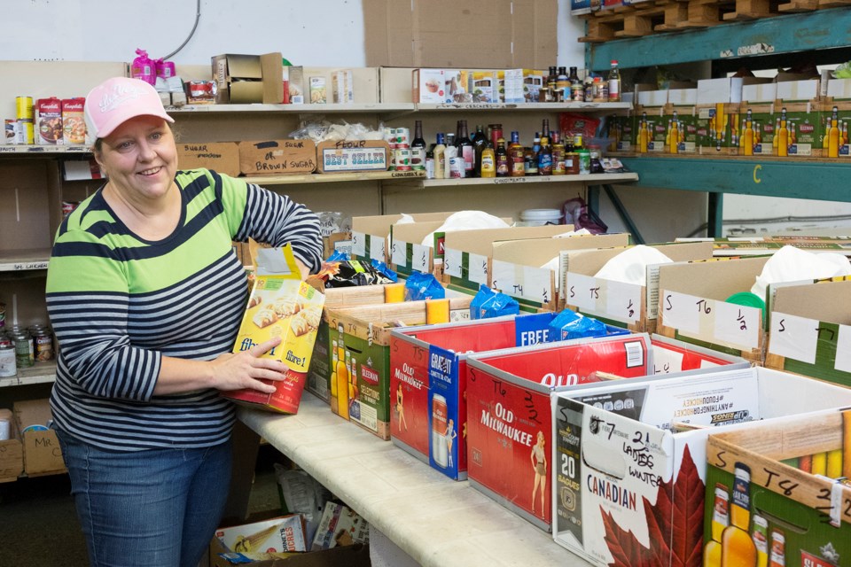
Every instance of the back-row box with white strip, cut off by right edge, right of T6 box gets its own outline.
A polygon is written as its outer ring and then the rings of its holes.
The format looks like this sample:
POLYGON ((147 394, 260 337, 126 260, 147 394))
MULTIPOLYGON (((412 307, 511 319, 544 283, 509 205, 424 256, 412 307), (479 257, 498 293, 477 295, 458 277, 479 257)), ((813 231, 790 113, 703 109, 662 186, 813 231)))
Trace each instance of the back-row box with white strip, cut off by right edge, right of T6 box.
POLYGON ((772 285, 765 366, 851 386, 851 281, 772 285))

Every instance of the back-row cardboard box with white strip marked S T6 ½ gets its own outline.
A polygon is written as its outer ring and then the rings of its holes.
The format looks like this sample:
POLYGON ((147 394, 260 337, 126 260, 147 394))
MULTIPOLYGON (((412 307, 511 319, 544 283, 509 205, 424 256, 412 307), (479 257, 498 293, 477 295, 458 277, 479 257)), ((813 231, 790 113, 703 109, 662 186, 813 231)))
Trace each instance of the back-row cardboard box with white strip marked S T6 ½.
POLYGON ((766 261, 761 257, 660 265, 657 332, 761 364, 765 315, 759 307, 727 299, 750 291, 766 261))

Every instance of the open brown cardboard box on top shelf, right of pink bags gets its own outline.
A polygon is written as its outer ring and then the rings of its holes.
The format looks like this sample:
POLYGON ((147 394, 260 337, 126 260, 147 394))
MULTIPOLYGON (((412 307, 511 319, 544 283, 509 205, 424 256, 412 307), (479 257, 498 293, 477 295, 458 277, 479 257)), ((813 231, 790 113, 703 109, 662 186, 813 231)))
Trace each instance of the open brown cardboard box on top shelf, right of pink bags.
POLYGON ((263 55, 225 53, 211 58, 218 90, 217 104, 280 104, 284 100, 282 58, 279 52, 263 55))

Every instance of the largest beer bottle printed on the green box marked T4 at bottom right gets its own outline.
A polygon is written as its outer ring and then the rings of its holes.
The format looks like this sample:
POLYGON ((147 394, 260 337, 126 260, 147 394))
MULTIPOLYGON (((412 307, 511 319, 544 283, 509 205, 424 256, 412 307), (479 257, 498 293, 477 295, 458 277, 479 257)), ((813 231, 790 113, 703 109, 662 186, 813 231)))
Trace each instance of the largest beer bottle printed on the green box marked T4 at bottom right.
POLYGON ((743 462, 735 465, 730 525, 721 535, 722 567, 755 567, 756 546, 747 532, 751 520, 751 470, 743 462))

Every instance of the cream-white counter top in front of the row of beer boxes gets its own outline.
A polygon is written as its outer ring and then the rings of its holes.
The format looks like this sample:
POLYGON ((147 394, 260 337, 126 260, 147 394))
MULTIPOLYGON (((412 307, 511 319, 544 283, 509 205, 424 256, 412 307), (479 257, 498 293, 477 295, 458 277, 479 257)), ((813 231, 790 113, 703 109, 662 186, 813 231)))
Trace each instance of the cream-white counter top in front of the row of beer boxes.
POLYGON ((296 416, 251 408, 238 416, 424 567, 589 565, 470 483, 333 415, 311 393, 296 416))

